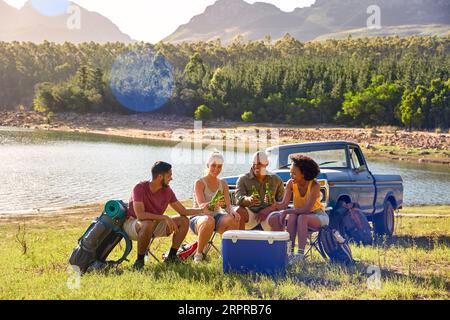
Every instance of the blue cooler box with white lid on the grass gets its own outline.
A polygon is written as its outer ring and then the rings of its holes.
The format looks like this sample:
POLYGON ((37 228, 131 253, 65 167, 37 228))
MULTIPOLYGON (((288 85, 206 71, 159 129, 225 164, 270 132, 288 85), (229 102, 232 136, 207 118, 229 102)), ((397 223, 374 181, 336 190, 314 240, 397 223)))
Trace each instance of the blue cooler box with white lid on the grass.
POLYGON ((289 238, 287 232, 225 232, 222 236, 224 272, 285 274, 289 238))

